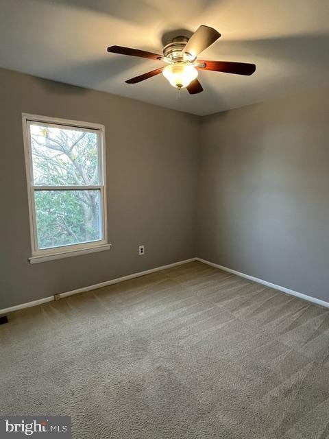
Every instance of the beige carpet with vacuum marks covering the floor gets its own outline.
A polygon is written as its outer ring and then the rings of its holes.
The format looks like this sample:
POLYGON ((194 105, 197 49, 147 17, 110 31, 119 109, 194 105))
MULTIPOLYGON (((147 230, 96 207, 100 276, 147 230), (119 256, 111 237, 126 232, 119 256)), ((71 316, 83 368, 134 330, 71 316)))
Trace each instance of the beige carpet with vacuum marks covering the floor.
POLYGON ((74 438, 329 438, 329 310, 202 263, 18 311, 1 414, 74 438))

